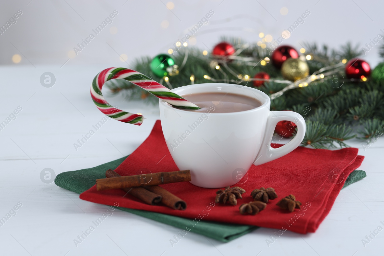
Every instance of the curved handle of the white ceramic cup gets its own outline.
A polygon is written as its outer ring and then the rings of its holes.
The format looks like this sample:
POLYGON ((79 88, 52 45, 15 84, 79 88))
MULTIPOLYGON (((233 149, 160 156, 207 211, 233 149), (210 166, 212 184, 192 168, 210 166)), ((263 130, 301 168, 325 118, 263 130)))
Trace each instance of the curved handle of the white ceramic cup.
POLYGON ((253 162, 254 165, 261 165, 272 160, 278 159, 296 149, 304 139, 305 135, 304 117, 293 111, 270 111, 265 127, 265 136, 259 153, 253 162), (271 140, 275 131, 276 124, 280 121, 291 121, 297 126, 295 137, 287 144, 273 149, 271 140))

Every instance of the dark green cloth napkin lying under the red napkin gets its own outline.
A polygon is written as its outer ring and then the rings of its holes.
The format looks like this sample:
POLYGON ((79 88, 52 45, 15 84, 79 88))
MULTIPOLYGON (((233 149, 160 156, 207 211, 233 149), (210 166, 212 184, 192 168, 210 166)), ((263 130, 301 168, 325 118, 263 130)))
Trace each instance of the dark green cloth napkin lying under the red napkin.
MULTIPOLYGON (((81 169, 71 172, 62 172, 55 178, 55 184, 59 187, 76 192, 78 194, 88 190, 98 178, 105 178, 105 171, 108 169, 114 170, 118 167, 127 157, 114 160, 112 162, 102 164, 93 168, 81 169)), ((366 173, 361 170, 353 171, 347 178, 344 187, 361 180, 366 177, 366 173)), ((122 211, 134 213, 136 215, 156 220, 177 228, 184 230, 187 226, 190 226, 190 220, 177 216, 166 215, 162 213, 156 213, 152 211, 143 211, 136 209, 129 209, 123 207, 117 207, 122 211)), ((235 238, 245 235, 253 230, 257 229, 257 226, 238 225, 230 223, 220 223, 214 221, 199 221, 190 231, 207 236, 209 238, 216 239, 222 242, 229 242, 235 238)))

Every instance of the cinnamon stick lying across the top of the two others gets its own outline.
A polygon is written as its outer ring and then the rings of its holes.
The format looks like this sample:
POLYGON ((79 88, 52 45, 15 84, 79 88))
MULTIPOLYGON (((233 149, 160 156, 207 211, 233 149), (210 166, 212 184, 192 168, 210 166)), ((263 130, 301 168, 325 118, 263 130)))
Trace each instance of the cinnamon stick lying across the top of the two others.
POLYGON ((174 182, 190 181, 191 174, 189 170, 176 172, 156 172, 141 175, 121 176, 96 180, 98 191, 113 188, 131 188, 153 186, 174 182))

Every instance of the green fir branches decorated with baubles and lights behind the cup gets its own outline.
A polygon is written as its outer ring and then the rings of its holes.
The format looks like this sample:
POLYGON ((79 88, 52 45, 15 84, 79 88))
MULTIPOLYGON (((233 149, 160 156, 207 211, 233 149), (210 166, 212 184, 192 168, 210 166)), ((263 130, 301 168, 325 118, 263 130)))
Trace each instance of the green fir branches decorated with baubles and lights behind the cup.
MULTIPOLYGON (((241 38, 222 38, 222 41, 231 43, 235 50, 242 49, 238 51, 238 56, 252 57, 255 63, 265 57, 270 58, 271 55, 271 49, 263 49, 241 38)), ((310 72, 339 63, 344 58, 350 60, 361 55, 359 46, 351 43, 346 43, 338 50, 330 49, 326 45, 318 46, 316 43, 307 43, 304 48, 305 54, 313 56, 312 60, 307 61, 310 72)), ((260 63, 250 65, 251 63, 240 60, 223 62, 210 53, 203 55, 202 50, 191 47, 182 47, 174 52, 172 58, 175 64, 179 66, 182 64, 186 50, 188 59, 185 66, 179 70, 178 75, 169 76, 169 83, 173 88, 191 84, 192 74, 195 76, 195 84, 215 83, 204 78, 204 75, 208 75, 218 80, 226 79, 218 83, 238 83, 253 87, 253 82, 241 81, 238 75, 244 77, 247 74, 253 77, 260 71, 268 73, 271 79, 283 79, 280 70, 271 63, 262 66, 260 63), (220 66, 219 70, 215 68, 216 65, 220 66)), ((381 46, 380 54, 384 57, 384 44, 381 46)), ((162 78, 156 77, 150 69, 151 61, 151 57, 145 56, 136 59, 132 67, 161 82, 162 78)), ((344 78, 342 71, 335 76, 314 81, 308 87, 287 91, 283 96, 271 101, 271 110, 292 110, 305 117, 307 129, 302 145, 324 149, 336 146, 348 147, 345 141, 356 135, 362 139, 370 139, 384 130, 384 81, 370 79, 367 82, 351 82, 344 78), (360 129, 354 131, 353 128, 356 126, 360 126, 360 129)), ((163 84, 167 86, 164 81, 163 84)), ((270 95, 285 86, 281 83, 265 82, 257 89, 270 95)), ((158 101, 156 97, 147 95, 146 91, 125 80, 108 81, 106 87, 111 89, 112 94, 130 95, 129 100, 144 100, 155 104, 158 101)))

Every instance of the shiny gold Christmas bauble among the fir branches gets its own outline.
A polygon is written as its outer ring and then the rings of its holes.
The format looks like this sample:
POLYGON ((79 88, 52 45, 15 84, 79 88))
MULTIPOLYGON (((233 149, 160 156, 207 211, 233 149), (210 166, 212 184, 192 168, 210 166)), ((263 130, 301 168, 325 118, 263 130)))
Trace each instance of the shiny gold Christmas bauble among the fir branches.
POLYGON ((310 74, 310 68, 301 59, 289 58, 281 66, 281 74, 284 79, 296 81, 306 78, 310 74))

